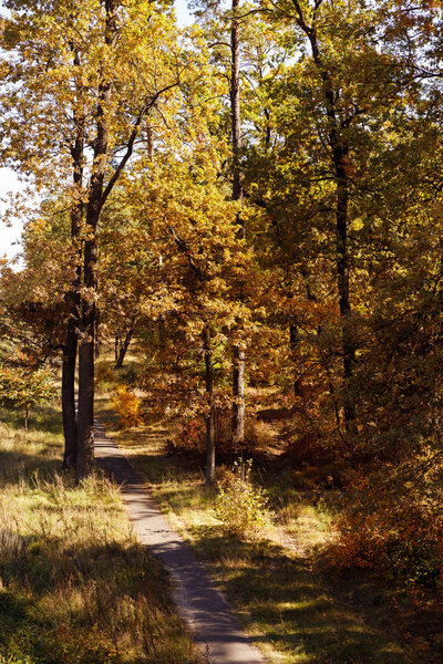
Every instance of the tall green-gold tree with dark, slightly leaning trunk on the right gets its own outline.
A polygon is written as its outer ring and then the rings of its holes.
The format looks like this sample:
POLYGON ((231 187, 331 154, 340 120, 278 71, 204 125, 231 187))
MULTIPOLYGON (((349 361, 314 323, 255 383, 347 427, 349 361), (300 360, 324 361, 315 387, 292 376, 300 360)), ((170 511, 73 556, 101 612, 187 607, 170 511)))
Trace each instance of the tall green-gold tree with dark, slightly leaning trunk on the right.
MULTIPOLYGON (((365 222, 369 200, 377 196, 374 160, 368 156, 380 156, 384 123, 400 122, 416 82, 399 56, 401 40, 384 48, 384 3, 279 2, 257 9, 277 28, 281 48, 291 38, 292 62, 260 83, 270 105, 274 149, 269 134, 251 143, 246 191, 254 191, 270 218, 274 266, 285 270, 279 290, 288 303, 291 353, 301 339, 313 342, 316 362, 323 365, 352 438, 362 264, 356 227, 365 222)), ((340 418, 337 424, 340 432, 340 418)))

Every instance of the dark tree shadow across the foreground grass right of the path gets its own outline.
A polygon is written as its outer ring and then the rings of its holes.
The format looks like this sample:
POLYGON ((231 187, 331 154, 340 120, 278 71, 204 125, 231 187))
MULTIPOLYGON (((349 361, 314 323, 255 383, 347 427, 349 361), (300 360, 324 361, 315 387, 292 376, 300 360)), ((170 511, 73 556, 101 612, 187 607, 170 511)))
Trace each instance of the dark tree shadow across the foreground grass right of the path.
MULTIPOLYGON (((395 639, 362 611, 340 601, 312 561, 289 557, 269 541, 224 537, 217 527, 194 527, 196 551, 253 630, 260 625, 274 649, 311 664, 412 664, 395 639)), ((194 532, 193 532, 194 531, 194 532)), ((288 660, 289 661, 289 660, 288 660)), ((292 661, 292 660, 290 660, 292 661)))

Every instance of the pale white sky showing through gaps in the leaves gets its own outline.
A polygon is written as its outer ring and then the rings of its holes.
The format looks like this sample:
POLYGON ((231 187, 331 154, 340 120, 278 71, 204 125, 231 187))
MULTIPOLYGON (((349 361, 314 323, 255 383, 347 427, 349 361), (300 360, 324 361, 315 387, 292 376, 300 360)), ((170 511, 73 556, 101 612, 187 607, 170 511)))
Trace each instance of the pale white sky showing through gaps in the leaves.
MULTIPOLYGON (((1 1, 0 1, 1 7, 1 1)), ((175 0, 175 10, 177 22, 181 27, 189 25, 193 17, 187 9, 186 0, 175 0)), ((2 199, 9 191, 20 191, 24 185, 19 181, 17 174, 11 168, 0 167, 0 216, 4 212, 7 204, 2 199)), ((11 228, 8 228, 0 219, 0 257, 8 256, 13 258, 20 251, 20 238, 23 227, 20 219, 17 219, 11 228)), ((20 264, 18 266, 20 267, 20 264)))

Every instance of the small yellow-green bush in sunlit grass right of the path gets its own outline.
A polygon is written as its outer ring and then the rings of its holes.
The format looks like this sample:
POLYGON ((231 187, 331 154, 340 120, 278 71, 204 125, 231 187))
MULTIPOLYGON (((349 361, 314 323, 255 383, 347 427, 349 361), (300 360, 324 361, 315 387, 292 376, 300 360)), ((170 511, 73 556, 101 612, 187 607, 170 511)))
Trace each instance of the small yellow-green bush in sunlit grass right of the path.
POLYGON ((215 515, 228 535, 255 539, 272 525, 268 498, 255 487, 250 474, 253 461, 236 461, 218 484, 215 515))

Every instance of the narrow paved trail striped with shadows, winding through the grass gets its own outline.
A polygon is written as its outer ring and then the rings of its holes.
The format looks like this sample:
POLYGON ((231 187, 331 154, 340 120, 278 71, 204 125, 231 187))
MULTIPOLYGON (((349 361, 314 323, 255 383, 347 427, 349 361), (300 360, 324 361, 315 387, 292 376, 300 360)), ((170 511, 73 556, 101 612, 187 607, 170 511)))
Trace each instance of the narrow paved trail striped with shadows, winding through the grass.
POLYGON ((210 664, 265 664, 243 632, 229 604, 215 588, 203 564, 154 505, 143 479, 116 443, 95 421, 95 456, 121 485, 126 511, 140 541, 171 573, 178 613, 210 664))

